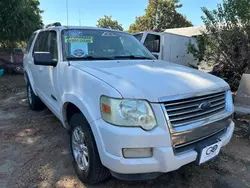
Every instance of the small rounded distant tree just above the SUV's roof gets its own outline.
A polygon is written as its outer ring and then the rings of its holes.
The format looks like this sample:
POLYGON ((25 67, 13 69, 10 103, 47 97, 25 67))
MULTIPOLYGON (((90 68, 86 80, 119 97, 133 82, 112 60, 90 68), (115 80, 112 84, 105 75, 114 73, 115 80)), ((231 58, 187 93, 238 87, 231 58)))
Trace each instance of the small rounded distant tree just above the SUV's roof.
POLYGON ((104 15, 103 18, 100 18, 97 21, 96 26, 123 31, 122 25, 119 24, 117 20, 112 20, 112 16, 107 16, 107 15, 104 15))

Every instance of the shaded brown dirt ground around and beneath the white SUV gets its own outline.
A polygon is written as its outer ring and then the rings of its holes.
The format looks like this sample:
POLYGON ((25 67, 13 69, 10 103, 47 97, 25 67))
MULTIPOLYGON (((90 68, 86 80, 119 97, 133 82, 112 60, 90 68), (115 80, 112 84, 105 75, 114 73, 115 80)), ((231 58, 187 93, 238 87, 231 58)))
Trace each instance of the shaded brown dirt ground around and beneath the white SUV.
POLYGON ((186 165, 150 181, 110 178, 82 184, 72 167, 68 133, 45 109, 28 108, 23 76, 0 77, 0 188, 13 187, 250 187, 250 117, 237 117, 234 136, 219 157, 186 165))

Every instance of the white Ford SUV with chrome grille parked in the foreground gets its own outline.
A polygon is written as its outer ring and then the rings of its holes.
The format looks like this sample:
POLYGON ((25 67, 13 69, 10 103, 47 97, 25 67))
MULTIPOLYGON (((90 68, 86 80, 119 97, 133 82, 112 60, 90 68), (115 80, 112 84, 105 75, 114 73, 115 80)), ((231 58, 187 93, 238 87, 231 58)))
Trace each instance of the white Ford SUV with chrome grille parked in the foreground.
POLYGON ((24 71, 30 108, 45 104, 69 130, 83 182, 202 164, 233 134, 227 83, 156 60, 125 32, 50 25, 33 33, 24 71))

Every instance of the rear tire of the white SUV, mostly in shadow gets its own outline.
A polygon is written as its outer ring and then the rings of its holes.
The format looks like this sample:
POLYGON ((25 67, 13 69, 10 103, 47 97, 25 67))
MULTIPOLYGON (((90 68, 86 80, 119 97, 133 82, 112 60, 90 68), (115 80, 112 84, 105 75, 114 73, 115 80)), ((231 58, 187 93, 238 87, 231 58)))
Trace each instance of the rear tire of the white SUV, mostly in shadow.
POLYGON ((29 82, 27 83, 27 98, 31 110, 38 111, 44 108, 43 102, 35 95, 29 82))

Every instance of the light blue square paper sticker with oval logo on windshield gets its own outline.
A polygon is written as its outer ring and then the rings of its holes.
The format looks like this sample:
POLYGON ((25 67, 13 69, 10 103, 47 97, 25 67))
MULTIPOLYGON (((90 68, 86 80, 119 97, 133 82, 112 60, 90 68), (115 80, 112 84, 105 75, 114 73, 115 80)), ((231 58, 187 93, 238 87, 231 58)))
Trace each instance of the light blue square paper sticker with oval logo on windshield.
POLYGON ((74 57, 84 57, 88 55, 88 43, 74 42, 70 45, 70 54, 74 57))

